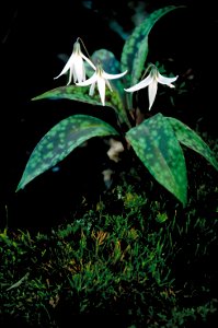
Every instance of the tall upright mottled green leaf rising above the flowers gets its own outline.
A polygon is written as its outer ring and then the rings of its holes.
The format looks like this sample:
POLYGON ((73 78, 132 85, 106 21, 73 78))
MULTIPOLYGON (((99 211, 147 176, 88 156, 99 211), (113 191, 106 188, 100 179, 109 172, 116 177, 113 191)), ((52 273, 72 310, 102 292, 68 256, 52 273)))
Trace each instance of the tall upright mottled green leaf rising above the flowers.
MULTIPOLYGON (((181 8, 176 5, 168 5, 153 11, 144 22, 135 27, 130 36, 124 44, 122 51, 122 70, 128 70, 128 75, 124 77, 126 87, 138 82, 145 69, 145 62, 148 56, 148 35, 156 22, 174 9, 181 8)), ((128 94, 128 107, 131 108, 133 94, 128 94)))

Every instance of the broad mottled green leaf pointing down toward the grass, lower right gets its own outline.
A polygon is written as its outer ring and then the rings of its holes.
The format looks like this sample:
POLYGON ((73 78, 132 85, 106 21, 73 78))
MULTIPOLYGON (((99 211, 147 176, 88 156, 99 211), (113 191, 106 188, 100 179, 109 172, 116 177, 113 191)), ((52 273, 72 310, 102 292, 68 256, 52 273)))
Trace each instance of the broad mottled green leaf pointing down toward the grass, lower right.
POLYGON ((185 204, 185 159, 169 120, 157 114, 130 129, 126 137, 150 174, 185 204))

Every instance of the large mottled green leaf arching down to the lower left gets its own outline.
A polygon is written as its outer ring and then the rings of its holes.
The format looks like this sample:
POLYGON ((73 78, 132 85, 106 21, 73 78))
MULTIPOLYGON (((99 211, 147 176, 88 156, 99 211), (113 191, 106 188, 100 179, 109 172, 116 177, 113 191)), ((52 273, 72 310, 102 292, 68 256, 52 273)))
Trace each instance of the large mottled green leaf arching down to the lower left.
POLYGON ((88 115, 70 116, 54 126, 37 143, 24 169, 16 191, 62 161, 85 140, 118 134, 107 122, 88 115))

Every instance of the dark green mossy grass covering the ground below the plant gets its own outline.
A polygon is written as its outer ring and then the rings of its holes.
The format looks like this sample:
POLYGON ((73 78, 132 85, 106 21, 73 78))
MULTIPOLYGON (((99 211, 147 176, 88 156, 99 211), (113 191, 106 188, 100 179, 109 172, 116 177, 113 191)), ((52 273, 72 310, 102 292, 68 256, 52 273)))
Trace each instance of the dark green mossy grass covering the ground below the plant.
POLYGON ((216 327, 217 173, 187 155, 185 209, 131 172, 50 232, 2 230, 1 327, 216 327))

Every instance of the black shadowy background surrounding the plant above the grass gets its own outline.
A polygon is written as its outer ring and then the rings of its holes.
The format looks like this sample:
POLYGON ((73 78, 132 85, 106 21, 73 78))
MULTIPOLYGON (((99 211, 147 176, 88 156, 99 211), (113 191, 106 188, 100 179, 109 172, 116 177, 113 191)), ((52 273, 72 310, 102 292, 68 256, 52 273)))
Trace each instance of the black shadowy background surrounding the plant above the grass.
MULTIPOLYGON (((62 172, 50 171, 15 194, 39 139, 60 119, 83 109, 83 105, 72 102, 31 98, 65 84, 64 78, 54 80, 64 67, 58 54, 69 56, 78 36, 90 54, 106 48, 119 59, 124 39, 110 27, 110 22, 116 20, 129 33, 140 2, 144 1, 1 2, 0 226, 7 221, 11 226, 51 225, 53 219, 61 221, 71 204, 79 201, 79 188, 93 195, 93 186, 97 185, 93 172, 101 165, 96 149, 91 156, 77 151, 70 162, 61 164, 62 172)), ((175 74, 190 72, 194 85, 170 114, 217 138, 218 17, 214 1, 146 1, 144 10, 151 12, 168 4, 186 4, 186 9, 156 24, 149 39, 150 57, 160 62, 172 58, 175 74)))

